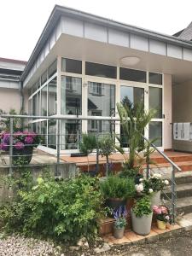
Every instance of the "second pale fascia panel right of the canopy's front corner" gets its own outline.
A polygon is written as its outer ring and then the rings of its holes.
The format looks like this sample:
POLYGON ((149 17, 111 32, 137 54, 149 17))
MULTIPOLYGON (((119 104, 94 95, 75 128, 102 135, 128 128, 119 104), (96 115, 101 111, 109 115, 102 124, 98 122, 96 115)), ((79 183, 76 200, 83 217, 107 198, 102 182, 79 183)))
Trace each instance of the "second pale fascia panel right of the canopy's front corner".
POLYGON ((84 38, 108 43, 108 28, 96 24, 84 23, 84 38))

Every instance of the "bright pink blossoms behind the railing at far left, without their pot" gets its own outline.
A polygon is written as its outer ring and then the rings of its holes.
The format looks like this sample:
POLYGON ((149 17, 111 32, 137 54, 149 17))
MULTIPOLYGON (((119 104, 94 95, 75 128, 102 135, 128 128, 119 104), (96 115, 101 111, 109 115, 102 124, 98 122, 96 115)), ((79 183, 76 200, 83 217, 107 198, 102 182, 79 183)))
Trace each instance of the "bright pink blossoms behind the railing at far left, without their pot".
MULTIPOLYGON (((17 150, 25 147, 36 147, 41 142, 41 137, 32 131, 17 131, 13 134, 13 146, 17 150)), ((8 151, 10 133, 4 132, 0 135, 0 149, 8 151)))

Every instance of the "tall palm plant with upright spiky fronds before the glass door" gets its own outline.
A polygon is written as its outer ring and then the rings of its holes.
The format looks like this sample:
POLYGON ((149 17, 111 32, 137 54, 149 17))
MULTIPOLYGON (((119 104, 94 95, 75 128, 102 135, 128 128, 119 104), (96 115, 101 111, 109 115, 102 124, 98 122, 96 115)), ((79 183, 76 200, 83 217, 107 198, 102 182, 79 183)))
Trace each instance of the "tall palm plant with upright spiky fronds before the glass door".
MULTIPOLYGON (((129 169, 134 169, 138 153, 143 151, 146 147, 143 141, 143 131, 151 119, 154 118, 155 110, 150 109, 147 112, 144 110, 143 104, 137 104, 132 107, 130 104, 123 103, 117 104, 117 109, 120 124, 130 148, 129 158, 126 157, 123 148, 119 146, 115 146, 115 148, 124 156, 126 166, 129 169)), ((117 139, 120 143, 120 138, 117 137, 117 139)))

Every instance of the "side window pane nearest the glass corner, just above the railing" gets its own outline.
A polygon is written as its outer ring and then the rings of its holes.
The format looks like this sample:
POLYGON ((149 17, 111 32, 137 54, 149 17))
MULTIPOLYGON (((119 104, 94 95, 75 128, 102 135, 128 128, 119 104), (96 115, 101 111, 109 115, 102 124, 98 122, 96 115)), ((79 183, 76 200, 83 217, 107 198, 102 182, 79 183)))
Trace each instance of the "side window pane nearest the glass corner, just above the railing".
POLYGON ((52 79, 48 84, 48 114, 53 115, 57 113, 56 102, 56 78, 52 79))

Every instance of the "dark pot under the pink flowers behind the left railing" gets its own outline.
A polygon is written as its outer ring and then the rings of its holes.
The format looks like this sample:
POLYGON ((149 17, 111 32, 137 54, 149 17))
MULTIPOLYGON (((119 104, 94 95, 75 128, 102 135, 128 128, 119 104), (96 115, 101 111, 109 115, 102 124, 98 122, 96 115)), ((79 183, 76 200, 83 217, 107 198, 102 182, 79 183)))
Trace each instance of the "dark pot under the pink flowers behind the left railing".
POLYGON ((23 149, 16 149, 13 147, 13 164, 14 165, 28 165, 32 160, 32 147, 25 147, 23 149))

